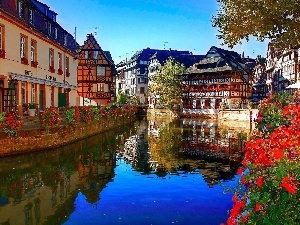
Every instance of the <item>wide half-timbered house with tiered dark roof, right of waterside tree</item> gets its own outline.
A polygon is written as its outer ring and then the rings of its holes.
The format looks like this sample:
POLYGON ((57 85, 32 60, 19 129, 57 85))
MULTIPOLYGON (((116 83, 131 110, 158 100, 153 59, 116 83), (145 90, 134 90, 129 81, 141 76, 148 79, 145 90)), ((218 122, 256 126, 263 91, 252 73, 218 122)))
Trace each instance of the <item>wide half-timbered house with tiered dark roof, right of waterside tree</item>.
POLYGON ((217 114, 222 105, 236 107, 251 95, 242 57, 214 46, 182 78, 184 114, 217 114))

